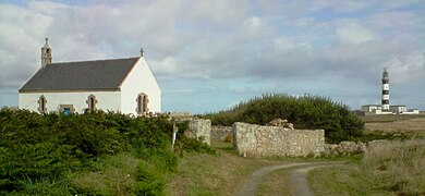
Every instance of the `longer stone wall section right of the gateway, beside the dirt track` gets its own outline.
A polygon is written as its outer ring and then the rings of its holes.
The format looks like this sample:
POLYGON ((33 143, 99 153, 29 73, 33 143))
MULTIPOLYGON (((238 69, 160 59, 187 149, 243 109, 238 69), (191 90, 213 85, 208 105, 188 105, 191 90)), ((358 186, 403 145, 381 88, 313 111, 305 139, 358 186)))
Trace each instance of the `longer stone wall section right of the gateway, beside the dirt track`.
POLYGON ((236 122, 233 148, 243 156, 307 156, 325 151, 324 130, 289 130, 236 122))

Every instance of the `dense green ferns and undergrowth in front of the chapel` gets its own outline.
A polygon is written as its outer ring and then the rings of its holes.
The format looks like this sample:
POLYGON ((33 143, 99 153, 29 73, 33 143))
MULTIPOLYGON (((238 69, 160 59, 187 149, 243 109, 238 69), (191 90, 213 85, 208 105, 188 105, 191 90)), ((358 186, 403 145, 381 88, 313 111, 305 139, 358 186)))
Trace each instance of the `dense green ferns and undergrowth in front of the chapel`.
MULTIPOLYGON (((214 154, 178 135, 167 117, 0 110, 0 195, 163 195, 186 151, 214 154)), ((185 130, 186 123, 177 123, 185 130)))

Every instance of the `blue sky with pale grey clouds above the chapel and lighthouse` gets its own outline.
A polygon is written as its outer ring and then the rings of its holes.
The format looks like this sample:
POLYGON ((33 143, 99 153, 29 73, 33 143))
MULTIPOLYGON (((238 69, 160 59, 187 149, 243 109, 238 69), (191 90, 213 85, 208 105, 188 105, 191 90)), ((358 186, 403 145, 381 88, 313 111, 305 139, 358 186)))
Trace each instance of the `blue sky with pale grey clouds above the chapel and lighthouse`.
POLYGON ((423 0, 0 0, 0 108, 53 62, 137 57, 161 90, 162 111, 226 110, 263 94, 328 97, 360 109, 425 110, 423 0))

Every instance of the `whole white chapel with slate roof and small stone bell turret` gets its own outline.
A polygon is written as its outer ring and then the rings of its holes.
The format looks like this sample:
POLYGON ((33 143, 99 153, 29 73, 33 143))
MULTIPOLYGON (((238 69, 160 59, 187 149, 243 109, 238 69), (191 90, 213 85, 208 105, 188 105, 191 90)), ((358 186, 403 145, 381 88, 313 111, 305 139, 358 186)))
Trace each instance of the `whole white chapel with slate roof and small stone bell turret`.
POLYGON ((51 48, 41 48, 41 66, 19 89, 19 107, 45 112, 93 110, 125 114, 161 111, 161 90, 143 57, 52 63, 51 48))

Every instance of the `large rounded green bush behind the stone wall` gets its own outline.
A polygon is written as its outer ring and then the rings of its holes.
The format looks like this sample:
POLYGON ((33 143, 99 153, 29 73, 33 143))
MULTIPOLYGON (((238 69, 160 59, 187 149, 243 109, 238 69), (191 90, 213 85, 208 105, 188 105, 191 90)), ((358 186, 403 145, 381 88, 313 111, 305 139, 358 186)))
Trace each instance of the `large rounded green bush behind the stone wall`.
POLYGON ((324 128, 327 142, 331 143, 361 136, 364 130, 363 121, 348 106, 317 96, 263 95, 230 110, 203 117, 216 125, 234 122, 264 125, 277 118, 287 119, 295 128, 324 128))

